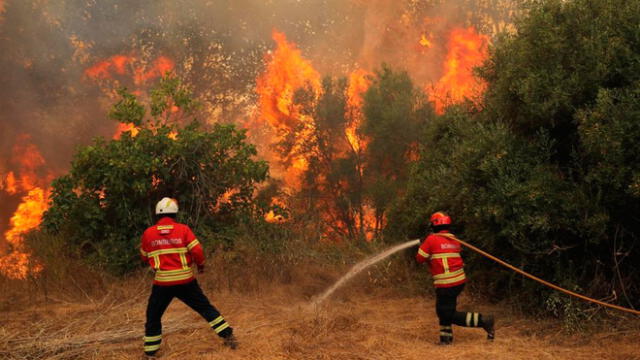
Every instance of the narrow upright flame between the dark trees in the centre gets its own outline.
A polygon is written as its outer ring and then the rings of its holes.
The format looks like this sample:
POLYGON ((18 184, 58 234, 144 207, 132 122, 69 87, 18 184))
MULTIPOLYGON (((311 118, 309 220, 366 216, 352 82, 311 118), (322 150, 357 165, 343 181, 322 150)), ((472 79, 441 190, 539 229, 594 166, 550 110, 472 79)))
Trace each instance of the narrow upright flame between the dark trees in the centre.
POLYGON ((345 128, 345 135, 356 152, 364 149, 366 143, 362 139, 357 130, 362 123, 362 105, 364 104, 363 95, 369 89, 372 74, 363 69, 356 69, 349 75, 349 86, 347 87, 347 119, 349 122, 345 128))

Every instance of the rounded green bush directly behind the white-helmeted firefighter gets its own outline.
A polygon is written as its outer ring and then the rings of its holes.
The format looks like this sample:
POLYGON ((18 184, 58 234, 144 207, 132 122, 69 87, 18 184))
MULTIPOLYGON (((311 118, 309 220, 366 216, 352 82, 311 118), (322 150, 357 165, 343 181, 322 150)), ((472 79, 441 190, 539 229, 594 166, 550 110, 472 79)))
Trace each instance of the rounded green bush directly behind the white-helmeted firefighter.
POLYGON ((161 81, 152 91, 152 117, 144 120, 143 105, 121 91, 111 114, 142 125, 139 133, 95 139, 75 155, 70 173, 53 182, 45 229, 63 232, 71 245, 114 272, 137 264, 139 236, 153 223, 162 197, 178 200, 180 220, 202 241, 224 241, 228 238, 216 234, 230 231, 250 210, 256 183, 267 177, 267 164, 253 160, 256 150, 245 143, 243 131, 232 125, 205 127, 193 119, 179 126, 178 120, 186 121, 166 114, 166 104, 180 106, 187 116, 196 109, 180 89, 175 79, 161 81), (224 194, 232 194, 228 202, 219 201, 224 194))

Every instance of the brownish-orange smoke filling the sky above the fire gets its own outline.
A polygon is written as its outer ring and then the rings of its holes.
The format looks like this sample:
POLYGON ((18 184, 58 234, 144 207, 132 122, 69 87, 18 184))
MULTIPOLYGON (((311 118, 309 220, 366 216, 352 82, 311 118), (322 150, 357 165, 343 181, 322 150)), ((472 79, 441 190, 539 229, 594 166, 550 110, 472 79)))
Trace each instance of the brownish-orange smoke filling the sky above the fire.
MULTIPOLYGON (((508 22, 515 3, 0 0, 0 179, 17 170, 12 149, 23 134, 55 175, 68 170, 79 145, 113 136, 117 124, 106 114, 115 89, 144 94, 153 81, 132 74, 150 71, 158 58, 170 59, 204 100, 204 120, 242 121, 255 109, 255 82, 274 47, 273 29, 323 75, 371 71, 387 62, 424 85, 441 72, 442 38, 452 24, 493 31, 508 22), (435 45, 425 47, 422 37, 435 45), (125 71, 87 76, 87 69, 118 55, 135 60, 125 71)), ((0 190, 0 196, 7 194, 0 190)), ((16 205, 2 203, 0 230, 16 205)))

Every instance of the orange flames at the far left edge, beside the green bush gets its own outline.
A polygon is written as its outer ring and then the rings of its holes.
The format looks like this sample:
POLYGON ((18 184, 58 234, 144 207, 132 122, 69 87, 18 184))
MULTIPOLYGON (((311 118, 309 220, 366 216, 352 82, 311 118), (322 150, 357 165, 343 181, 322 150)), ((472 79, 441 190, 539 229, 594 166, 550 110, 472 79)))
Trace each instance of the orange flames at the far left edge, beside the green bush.
POLYGON ((4 240, 9 252, 0 257, 0 273, 12 279, 25 279, 42 270, 42 266, 31 256, 24 244, 24 235, 40 225, 48 208, 49 190, 47 183, 51 176, 38 177, 37 171, 45 164, 44 158, 29 136, 21 136, 13 149, 17 171, 9 172, 1 191, 9 195, 26 193, 20 199, 18 208, 9 220, 9 229, 4 232, 4 240), (16 175, 18 174, 18 175, 16 175))

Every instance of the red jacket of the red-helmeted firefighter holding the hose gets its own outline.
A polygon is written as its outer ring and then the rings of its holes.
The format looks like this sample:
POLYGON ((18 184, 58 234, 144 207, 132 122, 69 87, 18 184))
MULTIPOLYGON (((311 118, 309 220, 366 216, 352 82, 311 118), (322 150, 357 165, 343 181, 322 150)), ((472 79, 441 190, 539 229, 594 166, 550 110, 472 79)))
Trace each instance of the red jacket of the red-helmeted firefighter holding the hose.
POLYGON ((435 287, 452 287, 467 281, 460 257, 460 243, 450 232, 444 230, 430 234, 422 242, 416 261, 422 264, 427 260, 435 287))

